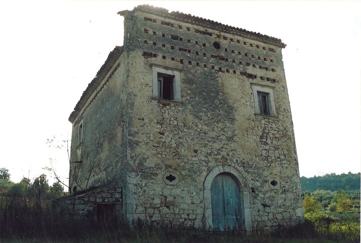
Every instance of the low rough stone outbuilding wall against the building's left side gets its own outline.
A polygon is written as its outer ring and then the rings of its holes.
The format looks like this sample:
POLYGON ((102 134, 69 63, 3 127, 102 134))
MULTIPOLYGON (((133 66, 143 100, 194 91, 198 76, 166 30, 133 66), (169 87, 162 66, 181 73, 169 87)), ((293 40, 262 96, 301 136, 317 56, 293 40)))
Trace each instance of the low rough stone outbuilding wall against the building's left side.
MULTIPOLYGON (((99 207, 111 211, 117 222, 122 220, 122 188, 102 187, 78 191, 71 196, 60 197, 53 202, 54 212, 64 220, 84 221, 88 223, 99 222, 103 217, 98 212, 99 207)), ((105 216, 109 218, 109 215, 105 216)))

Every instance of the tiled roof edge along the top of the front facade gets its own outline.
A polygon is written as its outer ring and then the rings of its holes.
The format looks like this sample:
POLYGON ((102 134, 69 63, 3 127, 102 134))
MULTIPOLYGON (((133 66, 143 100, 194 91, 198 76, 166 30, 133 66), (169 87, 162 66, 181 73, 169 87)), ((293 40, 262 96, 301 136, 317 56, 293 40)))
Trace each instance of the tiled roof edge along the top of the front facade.
MULTIPOLYGON (((261 34, 261 33, 256 33, 253 31, 246 30, 246 29, 225 25, 222 23, 215 22, 213 20, 204 19, 204 18, 197 17, 194 15, 180 13, 178 11, 177 12, 173 11, 173 12, 169 13, 169 11, 165 8, 153 7, 153 6, 149 6, 149 5, 139 5, 139 6, 135 7, 133 9, 133 11, 140 11, 140 12, 144 12, 144 13, 148 13, 148 14, 154 14, 154 15, 165 17, 165 18, 171 18, 171 19, 174 19, 177 21, 186 22, 189 24, 196 24, 199 26, 211 28, 211 29, 222 31, 222 32, 229 33, 229 34, 244 36, 244 37, 247 37, 250 39, 254 39, 256 41, 261 41, 263 43, 274 45, 279 48, 286 47, 286 45, 284 43, 282 43, 281 39, 271 37, 271 36, 261 34)), ((125 12, 127 12, 127 10, 120 11, 120 12, 118 12, 118 14, 124 15, 125 12)))

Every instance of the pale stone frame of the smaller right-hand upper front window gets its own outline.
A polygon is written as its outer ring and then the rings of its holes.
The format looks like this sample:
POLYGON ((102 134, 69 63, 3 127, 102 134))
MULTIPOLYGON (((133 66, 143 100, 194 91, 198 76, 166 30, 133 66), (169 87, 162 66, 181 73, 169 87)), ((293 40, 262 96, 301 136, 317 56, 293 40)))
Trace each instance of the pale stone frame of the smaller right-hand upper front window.
POLYGON ((253 98, 255 102, 255 114, 264 116, 276 116, 276 109, 273 95, 274 87, 252 84, 253 98), (259 106, 259 93, 267 94, 269 114, 262 114, 259 106))

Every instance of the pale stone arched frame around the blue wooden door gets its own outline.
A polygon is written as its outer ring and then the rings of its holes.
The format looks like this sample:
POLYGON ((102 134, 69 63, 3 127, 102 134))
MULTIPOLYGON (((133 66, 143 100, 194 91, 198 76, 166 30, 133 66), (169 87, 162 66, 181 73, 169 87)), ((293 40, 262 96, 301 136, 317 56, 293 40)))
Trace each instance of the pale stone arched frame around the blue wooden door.
POLYGON ((241 196, 240 201, 243 203, 244 208, 244 229, 246 231, 252 230, 252 220, 251 220, 251 204, 250 204, 250 190, 246 183, 245 178, 242 174, 239 173, 237 169, 227 165, 220 165, 214 167, 210 173, 206 176, 204 182, 203 196, 204 196, 204 219, 206 229, 213 229, 212 223, 212 198, 211 198, 211 186, 213 179, 220 173, 229 173, 231 176, 236 179, 236 182, 239 186, 240 191, 243 196, 241 196))

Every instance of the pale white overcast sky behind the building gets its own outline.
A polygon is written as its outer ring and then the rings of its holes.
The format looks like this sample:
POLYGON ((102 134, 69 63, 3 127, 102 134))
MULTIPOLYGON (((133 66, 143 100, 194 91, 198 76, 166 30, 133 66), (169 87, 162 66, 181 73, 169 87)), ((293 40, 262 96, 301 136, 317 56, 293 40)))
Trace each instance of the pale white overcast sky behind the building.
POLYGON ((123 45, 116 13, 141 4, 281 38, 300 175, 360 171, 361 2, 1 1, 0 168, 12 181, 52 158, 67 182, 66 149, 46 140, 70 139, 69 114, 123 45))

